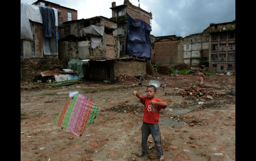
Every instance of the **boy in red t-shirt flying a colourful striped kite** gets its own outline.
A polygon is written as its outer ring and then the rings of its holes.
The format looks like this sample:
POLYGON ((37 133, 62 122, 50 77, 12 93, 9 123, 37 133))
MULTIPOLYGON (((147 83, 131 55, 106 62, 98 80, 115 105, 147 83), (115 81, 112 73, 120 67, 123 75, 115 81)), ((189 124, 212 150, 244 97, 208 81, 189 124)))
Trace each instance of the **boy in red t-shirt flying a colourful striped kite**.
POLYGON ((156 87, 150 85, 147 87, 146 94, 147 96, 140 95, 137 91, 133 91, 133 95, 140 99, 140 102, 144 105, 144 118, 143 123, 141 126, 141 133, 142 133, 142 151, 138 152, 138 156, 141 157, 148 152, 148 136, 149 134, 152 135, 157 154, 160 156, 159 160, 165 160, 162 142, 161 142, 161 135, 159 130, 159 112, 161 109, 165 109, 167 103, 160 100, 159 98, 154 98, 156 94, 156 87))

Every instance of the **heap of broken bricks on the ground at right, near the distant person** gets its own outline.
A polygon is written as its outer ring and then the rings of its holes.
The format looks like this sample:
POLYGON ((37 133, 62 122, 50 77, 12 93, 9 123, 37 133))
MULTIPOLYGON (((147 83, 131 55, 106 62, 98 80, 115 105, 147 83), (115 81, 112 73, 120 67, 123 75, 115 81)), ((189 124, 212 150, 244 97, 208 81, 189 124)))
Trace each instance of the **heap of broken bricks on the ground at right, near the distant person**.
POLYGON ((192 86, 192 87, 185 89, 184 91, 181 91, 180 95, 182 95, 183 97, 185 97, 185 96, 197 97, 197 98, 202 97, 202 98, 212 99, 211 96, 220 95, 220 93, 207 90, 206 88, 198 88, 197 89, 195 86, 192 86), (208 95, 211 95, 211 96, 208 96, 208 95))

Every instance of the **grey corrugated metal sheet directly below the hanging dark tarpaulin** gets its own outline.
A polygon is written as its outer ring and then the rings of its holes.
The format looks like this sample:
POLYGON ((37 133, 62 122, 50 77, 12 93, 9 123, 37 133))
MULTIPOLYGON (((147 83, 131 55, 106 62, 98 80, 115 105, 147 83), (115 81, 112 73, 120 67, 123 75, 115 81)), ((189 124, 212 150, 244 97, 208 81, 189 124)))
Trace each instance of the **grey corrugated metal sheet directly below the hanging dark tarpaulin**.
POLYGON ((58 43, 55 37, 43 37, 43 48, 45 55, 58 55, 58 43))

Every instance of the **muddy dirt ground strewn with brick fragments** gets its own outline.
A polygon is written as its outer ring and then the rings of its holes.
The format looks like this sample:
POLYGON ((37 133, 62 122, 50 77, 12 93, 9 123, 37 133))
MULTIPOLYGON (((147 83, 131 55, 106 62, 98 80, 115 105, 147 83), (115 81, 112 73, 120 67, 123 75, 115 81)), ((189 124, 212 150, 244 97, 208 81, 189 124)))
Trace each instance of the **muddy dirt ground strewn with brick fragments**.
MULTIPOLYGON (((166 90, 158 88, 156 95, 168 103, 159 119, 166 161, 235 160, 235 76, 205 76, 201 88, 218 93, 211 95, 212 100, 180 95, 196 85, 194 74, 155 77, 167 85, 166 90)), ((49 89, 47 83, 21 82, 21 161, 158 160, 156 149, 151 148, 154 142, 148 142, 148 154, 136 155, 141 150, 144 107, 132 92, 145 95, 153 79, 147 78, 142 86, 138 79, 115 84, 86 81, 49 89), (69 92, 77 90, 101 107, 81 137, 53 124, 69 92)))

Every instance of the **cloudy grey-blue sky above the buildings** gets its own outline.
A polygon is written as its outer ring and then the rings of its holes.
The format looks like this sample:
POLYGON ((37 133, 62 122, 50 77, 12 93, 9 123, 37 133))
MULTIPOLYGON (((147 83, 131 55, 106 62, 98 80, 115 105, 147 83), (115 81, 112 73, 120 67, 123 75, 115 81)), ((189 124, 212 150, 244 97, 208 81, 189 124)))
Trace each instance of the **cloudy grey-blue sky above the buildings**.
MULTIPOLYGON (((94 16, 112 17, 111 3, 123 4, 124 0, 49 0, 61 6, 77 10, 78 19, 94 16)), ((201 33, 210 23, 235 20, 235 0, 130 0, 147 12, 152 12, 154 36, 201 33)), ((21 0, 32 4, 36 0, 21 0)))

